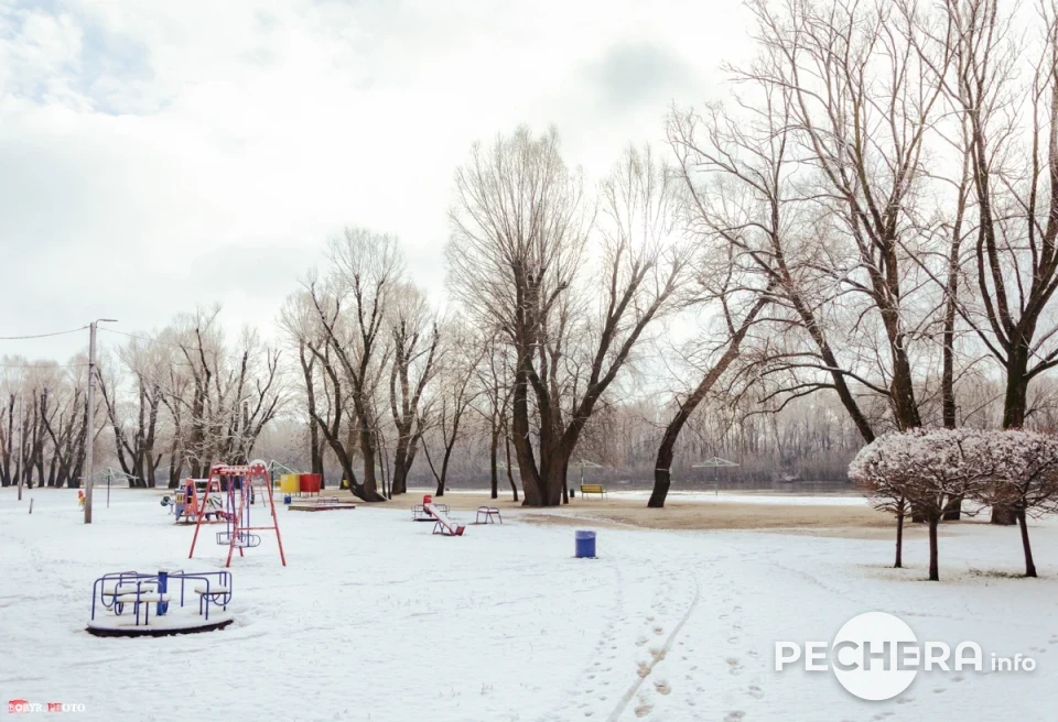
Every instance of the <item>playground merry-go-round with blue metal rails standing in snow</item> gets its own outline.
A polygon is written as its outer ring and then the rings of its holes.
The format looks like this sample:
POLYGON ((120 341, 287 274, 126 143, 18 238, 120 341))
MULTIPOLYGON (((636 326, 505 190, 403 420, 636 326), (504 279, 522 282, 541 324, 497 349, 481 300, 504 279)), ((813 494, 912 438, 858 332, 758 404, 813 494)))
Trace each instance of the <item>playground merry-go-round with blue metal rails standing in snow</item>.
POLYGON ((106 573, 91 586, 88 633, 96 636, 156 637, 220 630, 233 622, 227 613, 231 589, 229 571, 188 573, 162 569, 153 575, 138 571, 106 573), (177 583, 180 603, 173 608, 177 583), (191 604, 195 600, 197 610, 191 604))

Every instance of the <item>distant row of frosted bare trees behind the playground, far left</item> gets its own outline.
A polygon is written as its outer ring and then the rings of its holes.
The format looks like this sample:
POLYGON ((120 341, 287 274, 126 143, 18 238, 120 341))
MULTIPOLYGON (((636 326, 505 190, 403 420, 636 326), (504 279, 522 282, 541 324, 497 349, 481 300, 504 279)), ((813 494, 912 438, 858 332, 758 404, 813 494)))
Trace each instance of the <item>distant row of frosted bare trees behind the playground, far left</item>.
POLYGON ((4 358, 0 483, 21 474, 26 485, 80 485, 90 428, 102 460, 97 474, 174 486, 218 460, 248 460, 285 403, 278 350, 249 329, 229 341, 216 308, 182 315, 151 336, 111 338, 90 426, 84 355, 66 365, 4 358))

